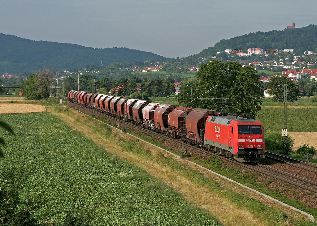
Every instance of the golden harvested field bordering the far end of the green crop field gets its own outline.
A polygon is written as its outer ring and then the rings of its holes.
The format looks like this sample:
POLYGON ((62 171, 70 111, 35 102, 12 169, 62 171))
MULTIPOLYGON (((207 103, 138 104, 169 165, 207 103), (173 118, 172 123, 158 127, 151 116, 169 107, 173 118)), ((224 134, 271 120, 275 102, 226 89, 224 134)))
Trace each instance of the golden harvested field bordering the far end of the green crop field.
POLYGON ((0 114, 43 112, 45 106, 38 104, 0 104, 0 114))

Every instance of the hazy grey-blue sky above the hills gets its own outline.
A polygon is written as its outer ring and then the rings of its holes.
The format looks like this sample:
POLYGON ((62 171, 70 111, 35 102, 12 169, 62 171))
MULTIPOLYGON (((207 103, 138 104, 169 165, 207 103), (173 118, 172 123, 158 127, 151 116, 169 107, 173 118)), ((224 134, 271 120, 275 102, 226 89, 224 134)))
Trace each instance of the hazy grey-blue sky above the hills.
POLYGON ((221 39, 317 24, 314 0, 0 0, 0 33, 186 57, 221 39))

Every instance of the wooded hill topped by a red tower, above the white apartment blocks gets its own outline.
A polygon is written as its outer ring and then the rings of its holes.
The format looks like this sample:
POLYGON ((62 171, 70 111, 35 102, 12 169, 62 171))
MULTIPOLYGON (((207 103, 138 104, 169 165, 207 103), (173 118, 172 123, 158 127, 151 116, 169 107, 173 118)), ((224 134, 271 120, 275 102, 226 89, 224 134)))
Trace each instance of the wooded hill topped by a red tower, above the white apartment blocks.
MULTIPOLYGON (((294 25, 294 24, 293 24, 294 25)), ((294 49, 294 53, 302 54, 307 50, 317 52, 317 26, 314 24, 302 28, 284 29, 283 31, 273 30, 268 32, 257 31, 249 35, 236 36, 230 39, 223 39, 214 47, 204 49, 198 54, 200 57, 216 55, 226 49, 248 48, 278 48, 294 49)), ((197 56, 197 55, 196 55, 197 56)))

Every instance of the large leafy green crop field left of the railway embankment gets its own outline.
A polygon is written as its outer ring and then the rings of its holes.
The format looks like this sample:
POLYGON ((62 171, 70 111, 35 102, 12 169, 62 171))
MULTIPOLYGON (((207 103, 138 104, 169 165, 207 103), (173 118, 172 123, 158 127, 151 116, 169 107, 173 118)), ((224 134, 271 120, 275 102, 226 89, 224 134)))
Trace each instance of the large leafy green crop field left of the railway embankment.
POLYGON ((0 121, 15 132, 0 129, 7 143, 0 159, 0 222, 6 225, 219 224, 56 116, 0 114, 0 121))

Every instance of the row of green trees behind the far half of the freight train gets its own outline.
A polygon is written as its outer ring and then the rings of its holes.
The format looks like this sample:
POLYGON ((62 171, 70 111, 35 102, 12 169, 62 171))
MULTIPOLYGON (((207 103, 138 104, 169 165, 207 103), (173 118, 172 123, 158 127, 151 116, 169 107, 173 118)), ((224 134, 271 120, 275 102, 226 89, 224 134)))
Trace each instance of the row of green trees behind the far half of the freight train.
POLYGON ((136 76, 121 77, 114 80, 109 77, 102 77, 100 80, 92 75, 77 75, 65 77, 63 82, 57 84, 57 77, 54 72, 45 68, 42 72, 36 72, 22 81, 20 91, 27 100, 39 100, 49 98, 53 95, 64 96, 71 90, 112 94, 139 98, 139 97, 171 97, 175 95, 175 80, 172 78, 155 78, 150 81, 147 77, 143 80, 136 76), (50 86, 59 86, 56 92, 50 90, 50 86))

